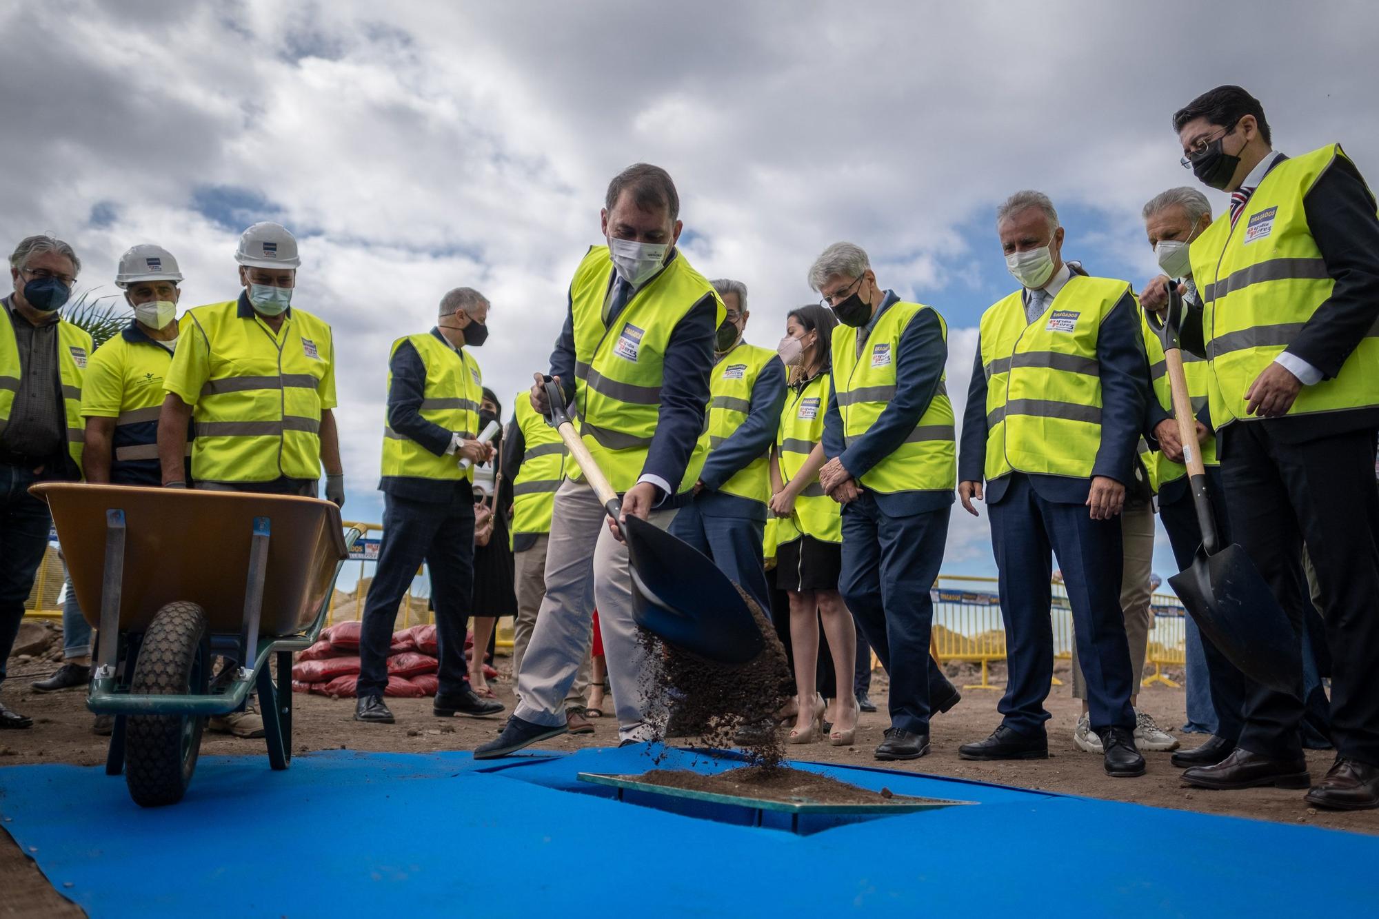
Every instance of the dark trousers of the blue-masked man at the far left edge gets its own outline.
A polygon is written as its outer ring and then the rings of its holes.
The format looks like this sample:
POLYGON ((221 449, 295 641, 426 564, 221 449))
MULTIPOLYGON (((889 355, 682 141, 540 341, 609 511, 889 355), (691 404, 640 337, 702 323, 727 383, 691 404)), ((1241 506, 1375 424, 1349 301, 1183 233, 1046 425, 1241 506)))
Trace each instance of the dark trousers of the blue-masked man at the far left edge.
POLYGON ((29 494, 34 482, 29 469, 0 465, 0 683, 52 526, 48 505, 29 494))

